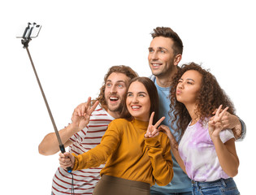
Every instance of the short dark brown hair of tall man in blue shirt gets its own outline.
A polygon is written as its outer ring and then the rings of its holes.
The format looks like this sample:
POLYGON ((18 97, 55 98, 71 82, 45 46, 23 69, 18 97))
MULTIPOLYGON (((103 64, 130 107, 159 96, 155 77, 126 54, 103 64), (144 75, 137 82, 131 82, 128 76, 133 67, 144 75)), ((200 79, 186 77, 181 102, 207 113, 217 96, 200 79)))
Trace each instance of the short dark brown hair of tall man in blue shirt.
POLYGON ((179 37, 179 35, 174 32, 169 27, 157 27, 154 28, 154 32, 151 32, 151 36, 154 37, 167 37, 171 38, 173 41, 172 50, 174 51, 174 54, 182 54, 183 52, 183 43, 179 37))

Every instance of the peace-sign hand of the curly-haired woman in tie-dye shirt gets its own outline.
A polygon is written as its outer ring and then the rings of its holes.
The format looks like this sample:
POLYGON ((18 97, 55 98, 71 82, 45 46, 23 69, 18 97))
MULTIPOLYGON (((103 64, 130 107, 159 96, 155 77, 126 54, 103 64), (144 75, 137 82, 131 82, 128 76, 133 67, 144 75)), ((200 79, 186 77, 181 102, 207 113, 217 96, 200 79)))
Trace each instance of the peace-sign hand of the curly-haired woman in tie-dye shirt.
POLYGON ((208 130, 210 134, 210 138, 219 137, 219 132, 223 129, 222 118, 226 111, 228 111, 228 107, 226 107, 223 111, 221 111, 222 105, 219 106, 215 115, 210 118, 208 122, 208 130))

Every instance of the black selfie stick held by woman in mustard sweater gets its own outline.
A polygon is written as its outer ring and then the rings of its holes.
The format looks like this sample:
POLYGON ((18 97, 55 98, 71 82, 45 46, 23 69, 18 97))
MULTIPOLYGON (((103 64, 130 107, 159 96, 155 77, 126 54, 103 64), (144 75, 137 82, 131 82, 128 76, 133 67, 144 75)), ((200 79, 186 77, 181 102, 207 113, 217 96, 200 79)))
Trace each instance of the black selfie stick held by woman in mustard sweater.
MULTIPOLYGON (((40 83, 40 80, 39 80, 39 78, 38 78, 38 76, 37 76, 37 71, 36 71, 36 68, 35 68, 35 66, 34 66, 34 63, 33 63, 33 60, 32 60, 32 58, 31 58, 31 55, 30 55, 30 53, 29 53, 29 50, 28 50, 28 42, 29 41, 31 41, 31 33, 32 33, 32 31, 33 31, 33 28, 37 25, 36 23, 33 23, 33 27, 31 27, 30 28, 30 23, 28 23, 28 27, 27 28, 25 28, 25 31, 24 31, 24 35, 23 35, 23 39, 21 40, 21 43, 24 45, 24 48, 27 50, 27 52, 28 52, 28 57, 29 57, 29 59, 30 59, 30 62, 31 62, 31 64, 32 64, 32 67, 33 67, 33 71, 34 71, 34 73, 35 73, 35 76, 37 77, 37 83, 38 83, 38 85, 39 85, 39 88, 40 88, 40 90, 41 90, 41 95, 42 95, 42 97, 44 98, 44 101, 45 101, 45 103, 46 103, 46 107, 47 107, 47 111, 48 111, 48 113, 49 113, 49 115, 50 115, 50 120, 51 120, 51 123, 53 124, 53 126, 54 126, 54 131, 55 131, 55 134, 56 134, 56 136, 57 136, 57 139, 58 139, 58 141, 59 141, 59 149, 60 149, 60 151, 62 152, 62 153, 65 153, 66 151, 65 151, 65 147, 64 147, 64 145, 63 145, 63 143, 62 143, 62 141, 61 141, 61 139, 60 139, 60 137, 59 137, 59 132, 58 132, 58 129, 57 129, 57 127, 56 127, 56 124, 55 124, 55 122, 54 122, 54 117, 53 117, 53 115, 51 114, 51 111, 50 111, 50 106, 48 105, 48 102, 47 102, 47 100, 46 100, 46 95, 45 95, 45 93, 44 93, 44 91, 43 91, 43 89, 42 89, 42 87, 41 87, 41 83, 40 83)), ((71 167, 67 167, 67 172, 72 172, 72 168, 71 167)))

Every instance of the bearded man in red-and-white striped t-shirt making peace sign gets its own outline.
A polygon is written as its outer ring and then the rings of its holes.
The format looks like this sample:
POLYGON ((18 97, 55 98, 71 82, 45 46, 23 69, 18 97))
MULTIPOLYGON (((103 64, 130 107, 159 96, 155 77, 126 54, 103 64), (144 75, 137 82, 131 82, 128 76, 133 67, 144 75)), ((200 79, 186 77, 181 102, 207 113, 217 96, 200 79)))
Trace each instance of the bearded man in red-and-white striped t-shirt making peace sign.
MULTIPOLYGON (((98 145, 104 135, 108 124, 118 118, 124 106, 124 96, 129 80, 137 77, 137 73, 130 67, 114 66, 109 69, 104 77, 104 85, 96 100, 88 98, 86 103, 76 107, 72 119, 83 117, 86 128, 77 129, 73 124, 59 130, 59 136, 69 152, 76 155, 83 154, 98 145)), ((59 142, 54 132, 46 135, 38 146, 40 154, 52 155, 59 152, 59 142)), ((52 194, 71 194, 72 187, 77 194, 92 194, 95 185, 100 180, 100 167, 72 171, 72 175, 59 167, 55 172, 52 194), (73 178, 72 178, 73 176, 73 178)))

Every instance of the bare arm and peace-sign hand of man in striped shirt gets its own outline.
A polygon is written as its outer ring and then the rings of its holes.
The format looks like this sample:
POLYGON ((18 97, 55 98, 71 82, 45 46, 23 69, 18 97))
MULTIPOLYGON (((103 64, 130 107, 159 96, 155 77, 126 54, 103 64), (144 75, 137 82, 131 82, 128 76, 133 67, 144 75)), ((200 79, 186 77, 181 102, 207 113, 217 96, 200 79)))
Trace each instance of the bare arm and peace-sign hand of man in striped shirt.
MULTIPOLYGON (((86 103, 77 106, 72 114, 72 124, 59 130, 59 137, 61 138, 64 147, 72 144, 72 141, 69 140, 70 137, 89 124, 89 117, 96 106, 98 106, 98 102, 95 102, 93 106, 90 106, 90 102, 91 98, 88 98, 86 103)), ((42 155, 52 155, 59 152, 59 142, 54 132, 51 132, 44 137, 40 145, 38 145, 38 151, 39 154, 42 155)))

